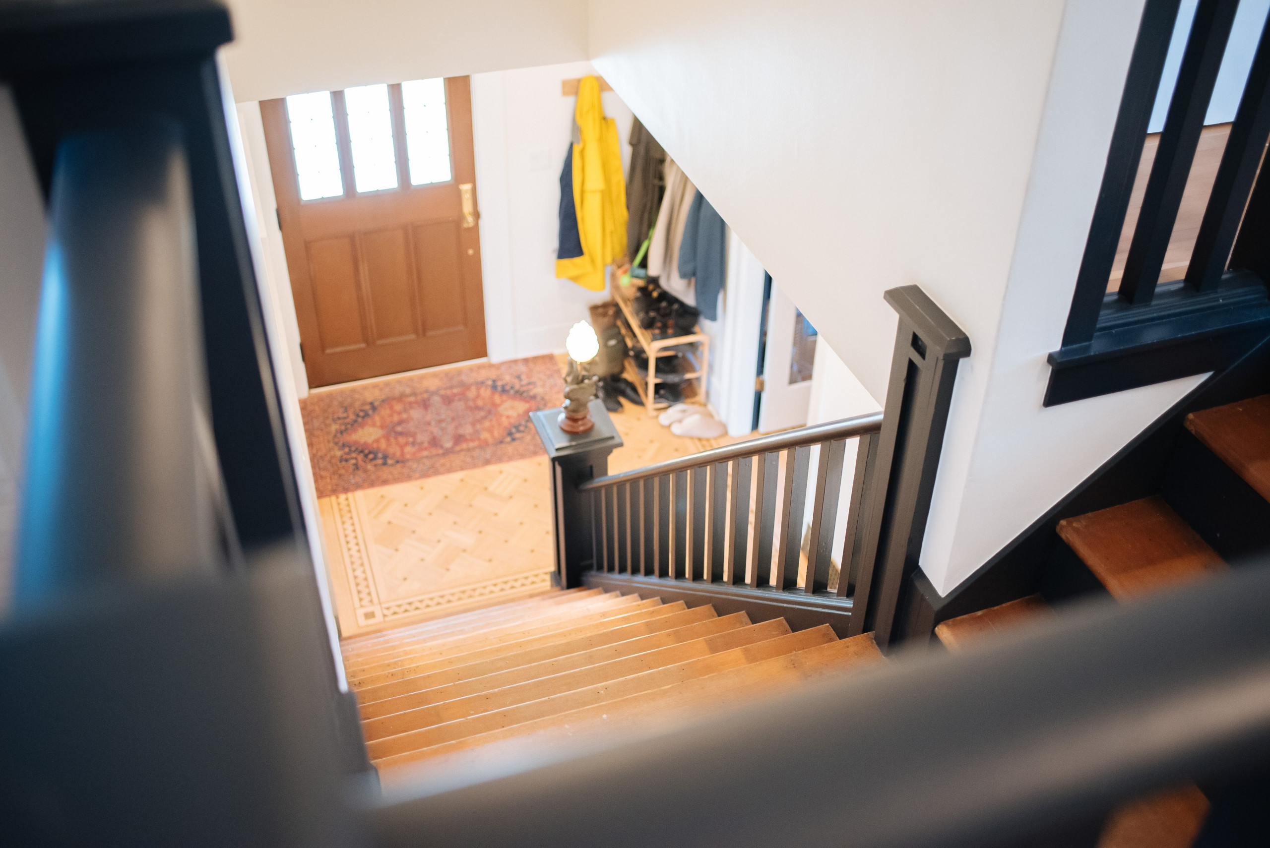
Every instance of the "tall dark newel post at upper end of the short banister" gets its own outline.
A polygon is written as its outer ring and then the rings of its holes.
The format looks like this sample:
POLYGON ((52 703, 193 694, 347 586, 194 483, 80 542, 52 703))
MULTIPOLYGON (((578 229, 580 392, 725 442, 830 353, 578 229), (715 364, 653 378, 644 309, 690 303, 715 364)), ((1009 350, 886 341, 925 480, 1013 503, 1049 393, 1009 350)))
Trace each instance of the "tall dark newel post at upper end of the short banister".
POLYGON ((864 540, 851 633, 874 631, 883 647, 913 630, 907 618, 922 552, 958 359, 970 339, 917 286, 885 293, 899 312, 878 453, 865 484, 864 540))

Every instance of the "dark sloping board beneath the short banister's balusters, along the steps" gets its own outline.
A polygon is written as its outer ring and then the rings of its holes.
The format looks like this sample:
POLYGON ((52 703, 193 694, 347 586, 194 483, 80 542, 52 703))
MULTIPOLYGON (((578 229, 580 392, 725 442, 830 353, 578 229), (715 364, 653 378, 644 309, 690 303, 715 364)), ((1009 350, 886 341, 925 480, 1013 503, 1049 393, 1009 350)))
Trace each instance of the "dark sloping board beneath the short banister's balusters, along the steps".
POLYGON ((839 639, 846 639, 851 628, 851 600, 831 593, 808 595, 800 589, 754 589, 726 583, 690 583, 611 571, 584 571, 582 583, 588 589, 638 594, 641 598, 657 597, 664 603, 682 600, 690 609, 709 604, 720 616, 743 612, 756 625, 772 618, 784 618, 795 631, 828 625, 839 639))

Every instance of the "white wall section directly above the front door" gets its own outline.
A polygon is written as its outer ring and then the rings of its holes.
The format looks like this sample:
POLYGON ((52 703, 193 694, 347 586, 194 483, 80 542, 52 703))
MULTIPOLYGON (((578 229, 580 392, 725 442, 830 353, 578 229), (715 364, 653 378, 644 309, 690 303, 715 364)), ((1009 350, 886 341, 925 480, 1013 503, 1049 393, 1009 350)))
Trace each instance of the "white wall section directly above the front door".
POLYGON ((587 58, 585 0, 229 0, 240 103, 587 58))

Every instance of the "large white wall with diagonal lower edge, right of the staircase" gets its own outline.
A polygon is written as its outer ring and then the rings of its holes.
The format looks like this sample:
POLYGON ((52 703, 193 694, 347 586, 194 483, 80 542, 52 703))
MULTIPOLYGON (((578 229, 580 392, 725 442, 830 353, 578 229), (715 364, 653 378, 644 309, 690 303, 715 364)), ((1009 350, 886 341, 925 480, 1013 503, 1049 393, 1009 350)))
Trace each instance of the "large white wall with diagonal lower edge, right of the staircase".
POLYGON ((870 395, 885 289, 969 333, 921 560, 942 593, 1199 380, 1040 406, 1142 5, 591 3, 597 70, 870 395))

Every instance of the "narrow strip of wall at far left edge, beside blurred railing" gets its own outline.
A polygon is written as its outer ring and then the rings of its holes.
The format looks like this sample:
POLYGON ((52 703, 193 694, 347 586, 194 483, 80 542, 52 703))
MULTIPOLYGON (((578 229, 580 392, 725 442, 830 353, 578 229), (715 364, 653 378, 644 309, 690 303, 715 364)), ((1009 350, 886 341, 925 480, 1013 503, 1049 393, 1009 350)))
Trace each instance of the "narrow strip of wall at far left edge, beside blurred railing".
POLYGON ((0 611, 13 584, 27 396, 44 259, 44 204, 8 86, 0 86, 0 611))

